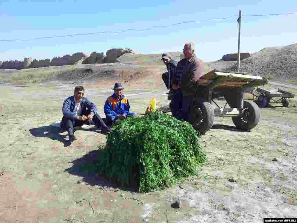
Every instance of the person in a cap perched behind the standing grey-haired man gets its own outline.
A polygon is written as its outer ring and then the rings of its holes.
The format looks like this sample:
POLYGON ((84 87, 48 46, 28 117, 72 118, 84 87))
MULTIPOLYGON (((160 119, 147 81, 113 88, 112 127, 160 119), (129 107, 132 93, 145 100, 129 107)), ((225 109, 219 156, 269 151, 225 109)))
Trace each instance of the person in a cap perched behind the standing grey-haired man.
POLYGON ((167 93, 169 95, 173 92, 171 80, 173 78, 172 76, 175 72, 175 68, 178 61, 171 59, 171 56, 168 53, 162 54, 161 60, 163 61, 163 64, 167 67, 167 71, 168 71, 162 74, 162 79, 167 89, 169 90, 169 92, 167 93))

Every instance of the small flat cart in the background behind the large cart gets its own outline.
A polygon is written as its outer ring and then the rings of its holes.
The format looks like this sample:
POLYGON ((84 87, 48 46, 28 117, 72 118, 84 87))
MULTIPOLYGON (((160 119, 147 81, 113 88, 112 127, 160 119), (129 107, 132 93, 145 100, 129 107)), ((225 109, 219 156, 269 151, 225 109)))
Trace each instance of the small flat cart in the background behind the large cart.
MULTIPOLYGON (((294 98, 294 94, 287 92, 282 89, 264 89, 257 87, 255 92, 260 95, 255 95, 258 98, 258 105, 262 108, 267 107, 269 102, 274 103, 282 103, 283 107, 289 106, 288 98, 294 98), (279 98, 278 100, 274 100, 274 98, 279 98)), ((254 94, 253 94, 254 95, 254 94)))

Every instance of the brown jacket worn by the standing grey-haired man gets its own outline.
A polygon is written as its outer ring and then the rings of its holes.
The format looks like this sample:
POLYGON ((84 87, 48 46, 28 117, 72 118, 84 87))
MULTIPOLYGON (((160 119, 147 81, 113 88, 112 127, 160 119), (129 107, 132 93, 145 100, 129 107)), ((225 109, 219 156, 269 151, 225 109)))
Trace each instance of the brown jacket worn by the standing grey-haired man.
POLYGON ((195 55, 189 60, 182 59, 176 66, 172 83, 181 86, 183 97, 191 97, 196 91, 196 81, 203 76, 203 71, 204 62, 195 55))

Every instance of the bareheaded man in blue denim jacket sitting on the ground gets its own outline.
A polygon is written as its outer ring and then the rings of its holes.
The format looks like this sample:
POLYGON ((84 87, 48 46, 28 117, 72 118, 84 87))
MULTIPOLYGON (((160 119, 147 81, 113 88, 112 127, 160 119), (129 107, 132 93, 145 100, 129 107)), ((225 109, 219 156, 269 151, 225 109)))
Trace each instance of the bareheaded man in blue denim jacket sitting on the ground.
POLYGON ((61 121, 61 128, 67 130, 70 142, 76 140, 73 128, 83 124, 89 125, 89 120, 93 120, 98 128, 101 126, 102 132, 110 133, 111 131, 97 114, 97 106, 88 98, 83 97, 84 92, 83 86, 76 86, 74 95, 64 100, 63 103, 62 112, 64 116, 61 121))

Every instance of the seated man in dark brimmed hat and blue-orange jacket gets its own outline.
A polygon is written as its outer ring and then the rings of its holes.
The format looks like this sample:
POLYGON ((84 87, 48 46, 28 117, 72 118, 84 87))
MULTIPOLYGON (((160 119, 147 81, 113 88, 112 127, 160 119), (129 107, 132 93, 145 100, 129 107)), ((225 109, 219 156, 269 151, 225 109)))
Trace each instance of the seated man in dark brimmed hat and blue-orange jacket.
POLYGON ((130 112, 128 98, 123 95, 121 83, 116 83, 113 87, 113 95, 109 96, 104 105, 107 124, 114 124, 117 119, 125 119, 135 116, 135 112, 130 112))

